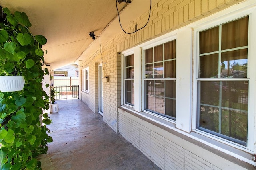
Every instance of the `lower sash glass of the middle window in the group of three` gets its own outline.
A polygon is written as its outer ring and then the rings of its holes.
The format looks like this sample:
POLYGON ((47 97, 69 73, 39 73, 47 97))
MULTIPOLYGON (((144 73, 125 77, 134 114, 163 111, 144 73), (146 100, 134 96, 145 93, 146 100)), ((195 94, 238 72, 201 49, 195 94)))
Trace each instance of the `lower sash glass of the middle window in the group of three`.
POLYGON ((175 80, 145 80, 145 98, 145 109, 175 118, 175 80))

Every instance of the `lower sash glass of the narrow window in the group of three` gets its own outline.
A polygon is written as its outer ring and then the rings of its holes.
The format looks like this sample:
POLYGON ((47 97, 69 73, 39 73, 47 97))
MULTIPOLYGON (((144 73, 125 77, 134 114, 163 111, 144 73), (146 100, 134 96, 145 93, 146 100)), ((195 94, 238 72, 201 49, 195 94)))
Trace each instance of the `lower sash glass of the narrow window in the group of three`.
POLYGON ((125 80, 125 103, 134 106, 134 80, 125 80))

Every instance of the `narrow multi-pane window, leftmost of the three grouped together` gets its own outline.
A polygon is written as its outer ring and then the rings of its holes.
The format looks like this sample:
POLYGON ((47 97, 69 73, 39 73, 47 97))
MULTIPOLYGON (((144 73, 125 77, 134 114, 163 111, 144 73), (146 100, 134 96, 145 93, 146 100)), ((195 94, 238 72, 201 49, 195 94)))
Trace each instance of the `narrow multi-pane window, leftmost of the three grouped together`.
POLYGON ((134 106, 134 54, 124 57, 125 60, 125 103, 134 106))

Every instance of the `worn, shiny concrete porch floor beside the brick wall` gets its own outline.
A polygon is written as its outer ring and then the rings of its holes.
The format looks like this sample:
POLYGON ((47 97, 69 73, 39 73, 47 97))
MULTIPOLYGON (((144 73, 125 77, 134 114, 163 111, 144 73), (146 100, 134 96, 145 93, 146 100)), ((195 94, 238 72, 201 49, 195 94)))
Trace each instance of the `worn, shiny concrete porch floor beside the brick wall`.
POLYGON ((158 170, 142 152, 114 132, 78 99, 57 100, 49 114, 53 142, 40 155, 42 170, 158 170))

